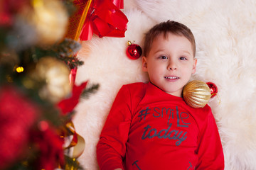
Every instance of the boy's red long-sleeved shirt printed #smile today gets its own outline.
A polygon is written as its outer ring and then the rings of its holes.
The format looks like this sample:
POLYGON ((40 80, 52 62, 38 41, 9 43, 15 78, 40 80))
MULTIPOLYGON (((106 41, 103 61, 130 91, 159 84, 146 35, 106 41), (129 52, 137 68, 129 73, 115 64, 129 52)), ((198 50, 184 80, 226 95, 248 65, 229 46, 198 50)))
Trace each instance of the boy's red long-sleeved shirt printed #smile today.
POLYGON ((224 169, 210 107, 191 108, 151 83, 122 86, 97 144, 102 170, 224 169))

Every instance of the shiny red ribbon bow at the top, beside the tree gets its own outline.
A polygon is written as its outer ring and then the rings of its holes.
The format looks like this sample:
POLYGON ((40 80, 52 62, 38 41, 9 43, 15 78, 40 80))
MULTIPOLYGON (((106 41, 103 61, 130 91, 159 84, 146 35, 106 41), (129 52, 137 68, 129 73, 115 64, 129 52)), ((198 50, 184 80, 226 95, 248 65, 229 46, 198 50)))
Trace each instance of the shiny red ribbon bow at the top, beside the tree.
POLYGON ((120 0, 95 0, 87 14, 87 18, 80 33, 80 40, 90 40, 93 33, 100 38, 124 37, 128 19, 119 10, 123 8, 120 0))

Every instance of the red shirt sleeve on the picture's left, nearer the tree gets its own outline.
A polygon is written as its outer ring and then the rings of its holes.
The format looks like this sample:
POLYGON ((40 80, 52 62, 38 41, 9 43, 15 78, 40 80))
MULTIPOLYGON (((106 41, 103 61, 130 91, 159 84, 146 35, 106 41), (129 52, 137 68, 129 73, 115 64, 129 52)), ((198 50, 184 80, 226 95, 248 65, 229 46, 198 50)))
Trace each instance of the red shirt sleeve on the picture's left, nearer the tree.
POLYGON ((97 162, 101 170, 123 168, 126 142, 131 124, 131 96, 129 89, 119 90, 97 144, 97 162))

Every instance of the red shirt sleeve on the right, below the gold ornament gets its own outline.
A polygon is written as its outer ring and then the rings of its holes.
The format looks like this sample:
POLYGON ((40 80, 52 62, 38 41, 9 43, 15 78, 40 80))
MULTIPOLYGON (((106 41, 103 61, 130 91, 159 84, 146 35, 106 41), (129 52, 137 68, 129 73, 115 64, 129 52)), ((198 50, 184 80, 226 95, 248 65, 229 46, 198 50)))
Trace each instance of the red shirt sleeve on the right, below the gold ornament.
POLYGON ((224 169, 223 147, 211 111, 209 111, 204 128, 198 136, 197 153, 198 165, 196 169, 224 169))

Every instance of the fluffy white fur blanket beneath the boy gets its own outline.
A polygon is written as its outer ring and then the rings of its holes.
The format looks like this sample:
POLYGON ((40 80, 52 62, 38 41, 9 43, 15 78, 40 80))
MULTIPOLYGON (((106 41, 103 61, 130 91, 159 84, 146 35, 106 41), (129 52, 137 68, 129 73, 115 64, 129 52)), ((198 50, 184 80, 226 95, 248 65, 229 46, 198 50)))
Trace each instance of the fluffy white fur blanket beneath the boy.
POLYGON ((79 161, 97 170, 96 145, 114 97, 122 84, 146 81, 142 60, 129 60, 127 41, 143 47, 144 33, 161 21, 174 20, 191 28, 198 66, 193 79, 218 86, 210 100, 225 154, 225 169, 256 169, 256 1, 253 0, 124 0, 129 19, 125 38, 82 42, 78 53, 85 64, 76 84, 100 84, 97 94, 81 100, 75 128, 85 138, 79 161))

